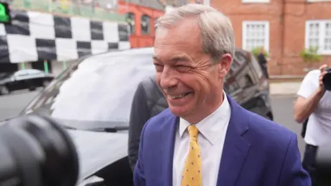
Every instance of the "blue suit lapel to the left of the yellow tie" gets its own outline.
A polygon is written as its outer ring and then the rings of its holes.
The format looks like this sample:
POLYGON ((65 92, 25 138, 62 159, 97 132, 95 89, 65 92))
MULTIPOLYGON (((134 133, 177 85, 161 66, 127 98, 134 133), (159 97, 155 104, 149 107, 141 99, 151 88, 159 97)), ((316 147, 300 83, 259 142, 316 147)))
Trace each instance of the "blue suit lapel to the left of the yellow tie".
POLYGON ((168 185, 171 186, 174 140, 179 118, 171 114, 169 109, 165 112, 169 112, 167 114, 169 117, 165 119, 161 126, 161 143, 163 144, 163 147, 161 147, 162 174, 165 177, 165 180, 167 180, 168 185))

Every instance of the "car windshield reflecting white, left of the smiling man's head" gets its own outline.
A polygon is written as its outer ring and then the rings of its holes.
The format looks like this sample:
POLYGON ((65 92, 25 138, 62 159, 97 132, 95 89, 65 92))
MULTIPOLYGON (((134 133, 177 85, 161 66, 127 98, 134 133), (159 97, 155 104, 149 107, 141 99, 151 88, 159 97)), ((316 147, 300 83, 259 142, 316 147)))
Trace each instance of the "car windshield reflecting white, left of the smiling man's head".
POLYGON ((21 114, 46 114, 79 129, 128 126, 138 83, 153 75, 152 52, 108 52, 77 61, 21 114))

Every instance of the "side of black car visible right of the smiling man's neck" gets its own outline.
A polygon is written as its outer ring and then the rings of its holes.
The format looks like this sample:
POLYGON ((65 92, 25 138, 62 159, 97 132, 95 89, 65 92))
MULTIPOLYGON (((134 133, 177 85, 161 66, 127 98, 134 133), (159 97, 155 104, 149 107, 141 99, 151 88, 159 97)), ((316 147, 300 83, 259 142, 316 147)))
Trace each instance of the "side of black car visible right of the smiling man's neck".
POLYGON ((224 89, 245 109, 270 120, 274 119, 268 79, 252 53, 237 48, 224 89))

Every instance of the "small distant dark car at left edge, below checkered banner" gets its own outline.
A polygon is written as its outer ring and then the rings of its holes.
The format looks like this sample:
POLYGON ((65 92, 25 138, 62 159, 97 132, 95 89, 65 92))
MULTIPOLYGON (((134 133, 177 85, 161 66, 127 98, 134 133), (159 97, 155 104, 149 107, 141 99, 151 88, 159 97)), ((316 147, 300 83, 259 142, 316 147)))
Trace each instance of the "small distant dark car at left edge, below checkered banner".
POLYGON ((5 72, 0 74, 0 95, 9 94, 14 90, 35 90, 37 87, 46 87, 52 79, 53 76, 36 69, 5 72))

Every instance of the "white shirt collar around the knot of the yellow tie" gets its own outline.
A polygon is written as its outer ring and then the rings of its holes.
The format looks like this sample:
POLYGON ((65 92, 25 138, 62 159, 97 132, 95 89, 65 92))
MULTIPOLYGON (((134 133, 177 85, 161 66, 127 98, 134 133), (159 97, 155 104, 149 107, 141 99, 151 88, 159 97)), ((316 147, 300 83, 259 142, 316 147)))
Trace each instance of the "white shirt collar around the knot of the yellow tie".
MULTIPOLYGON (((206 138, 210 144, 214 145, 219 136, 220 131, 224 130, 230 119, 230 104, 228 98, 223 92, 223 103, 212 114, 203 118, 199 123, 195 124, 199 132, 206 138)), ((179 136, 182 137, 186 128, 190 125, 188 121, 179 118, 179 136)))

